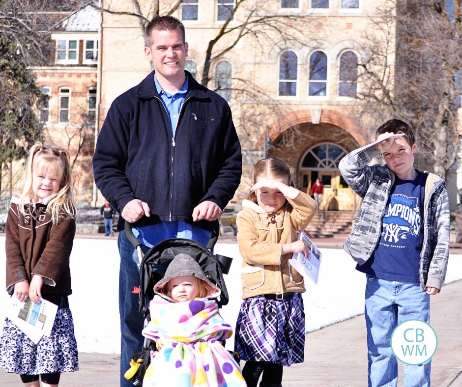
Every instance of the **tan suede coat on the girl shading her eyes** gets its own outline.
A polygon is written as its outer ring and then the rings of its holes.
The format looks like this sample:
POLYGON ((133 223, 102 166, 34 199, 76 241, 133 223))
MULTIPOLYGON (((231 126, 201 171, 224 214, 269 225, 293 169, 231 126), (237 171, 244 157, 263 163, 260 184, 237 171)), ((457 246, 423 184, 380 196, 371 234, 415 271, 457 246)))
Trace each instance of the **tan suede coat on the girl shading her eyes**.
POLYGON ((295 188, 286 205, 266 213, 244 200, 237 215, 237 242, 242 255, 242 298, 260 294, 304 292, 303 277, 288 263, 292 253, 282 255, 282 245, 297 240, 318 211, 316 202, 295 188))

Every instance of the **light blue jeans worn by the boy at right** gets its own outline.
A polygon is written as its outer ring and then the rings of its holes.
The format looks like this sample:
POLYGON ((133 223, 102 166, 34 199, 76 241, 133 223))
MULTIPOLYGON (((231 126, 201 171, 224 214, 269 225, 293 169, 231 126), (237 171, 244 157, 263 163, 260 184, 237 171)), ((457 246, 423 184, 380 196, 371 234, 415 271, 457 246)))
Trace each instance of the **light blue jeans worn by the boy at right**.
MULTIPOLYGON (((398 361, 390 346, 391 334, 407 320, 430 323, 430 296, 412 283, 387 281, 367 275, 365 317, 370 387, 397 386, 398 361)), ((430 386, 431 361, 403 364, 404 386, 430 386)))

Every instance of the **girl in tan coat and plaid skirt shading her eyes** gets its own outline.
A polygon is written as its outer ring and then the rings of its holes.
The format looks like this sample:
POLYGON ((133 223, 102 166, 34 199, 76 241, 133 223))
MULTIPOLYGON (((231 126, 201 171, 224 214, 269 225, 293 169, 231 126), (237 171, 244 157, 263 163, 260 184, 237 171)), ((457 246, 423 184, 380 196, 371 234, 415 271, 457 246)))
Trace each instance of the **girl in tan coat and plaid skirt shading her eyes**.
POLYGON ((242 298, 235 348, 245 360, 249 387, 281 386, 283 365, 303 361, 305 313, 303 277, 290 266, 294 252, 308 248, 298 240, 318 206, 294 188, 290 167, 277 157, 260 160, 252 172, 249 200, 237 216, 242 255, 242 298))

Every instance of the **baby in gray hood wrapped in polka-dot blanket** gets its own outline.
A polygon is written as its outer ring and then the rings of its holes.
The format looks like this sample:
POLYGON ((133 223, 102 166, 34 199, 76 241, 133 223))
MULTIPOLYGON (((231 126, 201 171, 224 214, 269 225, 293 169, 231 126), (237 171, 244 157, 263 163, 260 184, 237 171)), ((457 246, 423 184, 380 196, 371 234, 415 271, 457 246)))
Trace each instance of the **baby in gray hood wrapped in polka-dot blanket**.
POLYGON ((221 290, 196 260, 177 254, 154 293, 143 335, 159 351, 151 352, 143 386, 246 386, 239 365, 222 344, 232 329, 219 313, 221 290))

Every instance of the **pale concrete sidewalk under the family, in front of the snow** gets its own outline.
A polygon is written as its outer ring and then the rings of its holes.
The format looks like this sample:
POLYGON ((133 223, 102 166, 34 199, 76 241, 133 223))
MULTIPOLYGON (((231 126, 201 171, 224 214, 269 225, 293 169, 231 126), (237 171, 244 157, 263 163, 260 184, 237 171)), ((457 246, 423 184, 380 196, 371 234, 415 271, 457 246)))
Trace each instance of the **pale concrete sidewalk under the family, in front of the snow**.
MULTIPOLYGON (((438 336, 432 386, 462 387, 462 280, 432 297, 431 324, 438 336)), ((310 318, 307 316, 307 318, 310 318)), ((283 386, 367 386, 366 326, 354 317, 306 335, 305 362, 285 367, 283 386)), ((120 357, 80 353, 80 371, 63 374, 61 387, 117 387, 120 357)), ((400 367, 400 383, 402 368, 400 367)), ((2 374, 0 386, 21 385, 18 375, 2 374)), ((170 386, 166 381, 166 387, 170 386)))

